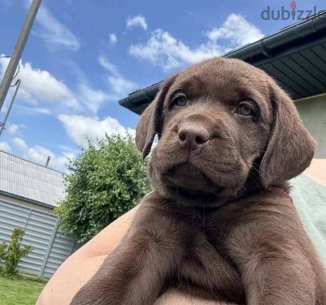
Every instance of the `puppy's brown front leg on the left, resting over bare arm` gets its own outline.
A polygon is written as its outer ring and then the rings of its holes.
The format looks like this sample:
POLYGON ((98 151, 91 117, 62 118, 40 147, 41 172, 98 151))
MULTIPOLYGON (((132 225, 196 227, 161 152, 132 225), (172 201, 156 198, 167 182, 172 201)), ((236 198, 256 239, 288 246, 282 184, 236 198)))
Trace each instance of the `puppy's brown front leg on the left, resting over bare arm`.
MULTIPOLYGON (((147 200, 148 201, 148 200, 147 200)), ((143 202, 121 245, 75 295, 72 305, 148 305, 183 257, 185 238, 173 216, 143 202)))

